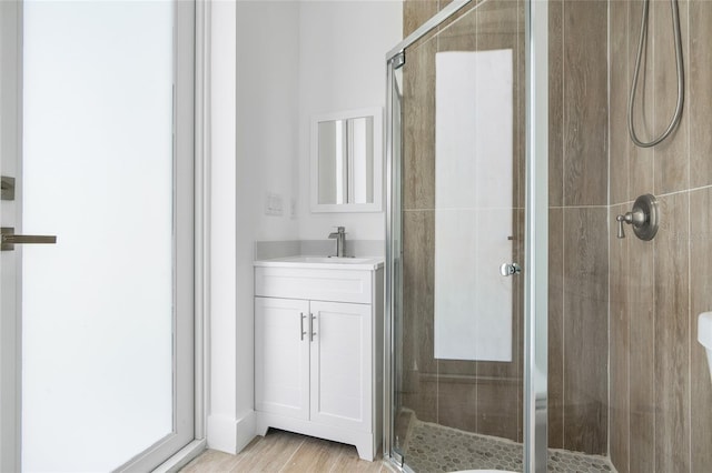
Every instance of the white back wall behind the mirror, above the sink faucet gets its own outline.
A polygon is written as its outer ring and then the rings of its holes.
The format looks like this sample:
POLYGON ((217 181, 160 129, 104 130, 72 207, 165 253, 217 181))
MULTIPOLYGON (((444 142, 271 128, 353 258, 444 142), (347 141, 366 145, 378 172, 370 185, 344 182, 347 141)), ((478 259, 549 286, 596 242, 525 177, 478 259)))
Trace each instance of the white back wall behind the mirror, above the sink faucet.
POLYGON ((349 240, 383 240, 383 212, 309 211, 309 119, 367 107, 382 107, 385 113, 386 53, 402 39, 403 4, 360 0, 300 6, 299 239, 323 240, 333 227, 344 225, 349 240))

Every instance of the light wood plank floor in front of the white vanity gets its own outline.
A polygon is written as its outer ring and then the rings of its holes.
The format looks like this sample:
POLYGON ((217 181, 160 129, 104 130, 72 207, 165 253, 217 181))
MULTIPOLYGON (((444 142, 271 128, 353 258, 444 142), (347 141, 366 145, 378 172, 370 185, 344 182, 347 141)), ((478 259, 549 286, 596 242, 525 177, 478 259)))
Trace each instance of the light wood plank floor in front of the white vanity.
POLYGON ((207 450, 181 473, 275 472, 275 473, 390 473, 379 457, 366 462, 356 447, 291 432, 270 430, 256 437, 237 455, 207 450))

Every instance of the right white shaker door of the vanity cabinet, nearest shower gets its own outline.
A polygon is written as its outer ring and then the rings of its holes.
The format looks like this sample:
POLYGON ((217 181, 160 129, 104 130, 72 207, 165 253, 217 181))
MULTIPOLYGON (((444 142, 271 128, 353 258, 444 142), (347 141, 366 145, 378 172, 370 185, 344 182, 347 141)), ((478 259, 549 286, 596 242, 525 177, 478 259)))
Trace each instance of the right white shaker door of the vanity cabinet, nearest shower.
POLYGON ((310 303, 312 421, 372 430, 372 306, 310 303))

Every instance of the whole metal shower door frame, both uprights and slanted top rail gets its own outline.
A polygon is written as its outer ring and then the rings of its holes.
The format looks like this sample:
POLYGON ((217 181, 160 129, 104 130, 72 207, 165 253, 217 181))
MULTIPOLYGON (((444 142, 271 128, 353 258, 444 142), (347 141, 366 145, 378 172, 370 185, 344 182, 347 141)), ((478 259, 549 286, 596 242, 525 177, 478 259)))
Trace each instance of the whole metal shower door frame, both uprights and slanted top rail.
MULTIPOLYGON (((395 388, 395 254, 393 91, 395 70, 405 49, 457 11, 477 0, 456 0, 441 10, 386 54, 386 314, 384 330, 384 459, 402 471, 392 445, 395 388), (398 463, 398 464, 397 464, 398 463)), ((487 1, 483 0, 479 4, 487 1)), ((526 203, 524 263, 524 472, 545 473, 547 459, 547 330, 548 330, 548 3, 523 0, 526 50, 526 203)), ((477 6, 478 7, 478 6, 477 6)), ((476 8, 477 8, 476 7, 476 8)), ((407 58, 406 58, 407 60, 407 58)), ((398 200, 399 201, 399 200, 398 200)))

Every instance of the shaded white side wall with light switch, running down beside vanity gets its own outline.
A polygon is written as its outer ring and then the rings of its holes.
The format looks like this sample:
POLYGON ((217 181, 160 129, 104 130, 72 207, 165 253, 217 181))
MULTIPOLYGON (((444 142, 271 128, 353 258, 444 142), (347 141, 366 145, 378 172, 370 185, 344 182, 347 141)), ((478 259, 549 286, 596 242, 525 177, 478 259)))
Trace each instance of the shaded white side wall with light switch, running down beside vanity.
MULTIPOLYGON (((254 409, 256 240, 295 240, 298 3, 237 2, 237 412, 254 409), (283 198, 283 215, 265 214, 267 192, 283 198)), ((246 425, 246 429, 248 426, 246 425)), ((238 439, 238 450, 254 435, 238 439)))

